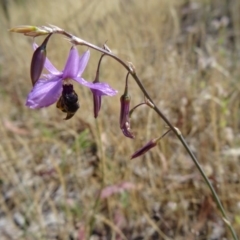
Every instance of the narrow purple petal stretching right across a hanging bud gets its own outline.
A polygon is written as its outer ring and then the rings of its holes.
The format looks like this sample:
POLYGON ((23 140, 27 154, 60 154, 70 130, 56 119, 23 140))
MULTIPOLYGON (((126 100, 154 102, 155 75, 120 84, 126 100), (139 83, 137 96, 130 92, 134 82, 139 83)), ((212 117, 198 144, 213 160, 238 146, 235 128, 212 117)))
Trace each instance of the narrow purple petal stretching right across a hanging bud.
POLYGON ((91 82, 87 82, 86 80, 84 80, 83 78, 80 77, 75 77, 73 78, 73 80, 75 80, 76 82, 90 88, 90 89, 95 89, 98 90, 98 94, 100 96, 102 95, 108 95, 108 96, 114 96, 117 94, 117 90, 114 90, 113 88, 111 88, 107 83, 91 83, 91 82))

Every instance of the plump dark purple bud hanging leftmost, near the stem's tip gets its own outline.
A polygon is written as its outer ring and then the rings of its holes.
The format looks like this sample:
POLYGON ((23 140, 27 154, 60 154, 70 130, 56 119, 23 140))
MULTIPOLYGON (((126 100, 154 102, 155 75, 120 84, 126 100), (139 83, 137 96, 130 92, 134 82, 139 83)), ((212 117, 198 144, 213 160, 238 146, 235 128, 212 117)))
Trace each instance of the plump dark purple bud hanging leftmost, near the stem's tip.
POLYGON ((51 35, 52 34, 49 34, 45 38, 43 43, 33 53, 31 69, 30 69, 30 75, 31 75, 31 80, 32 80, 33 86, 38 81, 38 79, 42 73, 44 63, 46 60, 46 54, 47 54, 46 47, 47 47, 47 43, 48 43, 48 40, 51 37, 51 35))

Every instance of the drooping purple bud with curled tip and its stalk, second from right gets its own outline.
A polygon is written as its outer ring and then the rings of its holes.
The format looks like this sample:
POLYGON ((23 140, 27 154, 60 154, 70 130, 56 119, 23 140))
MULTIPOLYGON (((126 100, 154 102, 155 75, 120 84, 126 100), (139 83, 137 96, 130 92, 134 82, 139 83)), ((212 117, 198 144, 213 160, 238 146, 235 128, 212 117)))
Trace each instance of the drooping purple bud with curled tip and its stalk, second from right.
POLYGON ((129 108, 130 108, 131 97, 128 94, 128 75, 129 75, 129 72, 126 76, 125 91, 120 98, 121 108, 120 108, 119 124, 123 134, 126 137, 134 138, 133 134, 131 133, 130 120, 129 120, 129 108))

